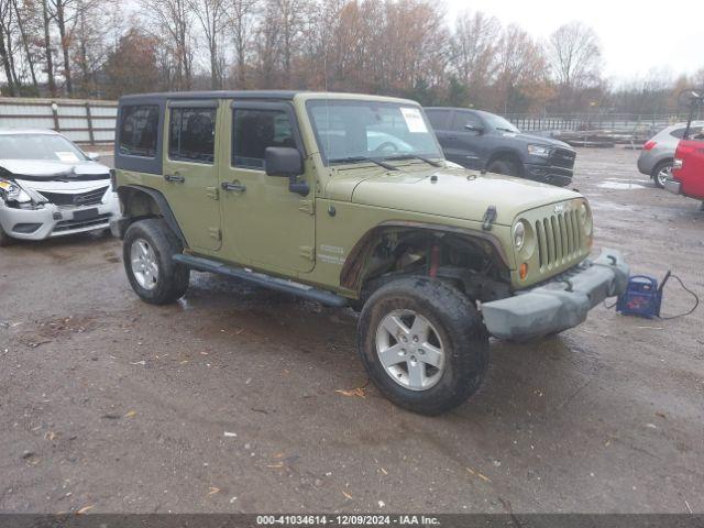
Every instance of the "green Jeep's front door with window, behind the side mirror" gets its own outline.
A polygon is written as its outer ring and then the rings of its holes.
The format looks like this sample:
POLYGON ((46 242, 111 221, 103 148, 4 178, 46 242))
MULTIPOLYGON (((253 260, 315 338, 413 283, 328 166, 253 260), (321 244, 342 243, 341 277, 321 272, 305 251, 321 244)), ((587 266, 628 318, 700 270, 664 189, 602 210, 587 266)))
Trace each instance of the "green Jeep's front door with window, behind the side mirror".
MULTIPOLYGON (((295 147, 305 157, 293 107, 286 102, 233 102, 224 127, 231 141, 220 163, 224 258, 268 272, 309 272, 315 264, 315 182, 302 197, 288 178, 267 176, 264 151, 295 147)), ((224 130, 224 129, 223 129, 224 130)))

